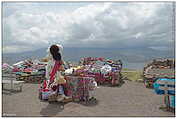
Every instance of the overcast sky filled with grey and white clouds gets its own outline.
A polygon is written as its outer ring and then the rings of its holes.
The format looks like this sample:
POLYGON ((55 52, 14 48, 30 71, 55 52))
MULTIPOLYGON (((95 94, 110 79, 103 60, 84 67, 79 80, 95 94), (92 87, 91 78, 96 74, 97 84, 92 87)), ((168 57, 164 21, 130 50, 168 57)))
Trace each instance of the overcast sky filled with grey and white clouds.
POLYGON ((48 47, 174 47, 172 2, 4 2, 3 52, 48 47))

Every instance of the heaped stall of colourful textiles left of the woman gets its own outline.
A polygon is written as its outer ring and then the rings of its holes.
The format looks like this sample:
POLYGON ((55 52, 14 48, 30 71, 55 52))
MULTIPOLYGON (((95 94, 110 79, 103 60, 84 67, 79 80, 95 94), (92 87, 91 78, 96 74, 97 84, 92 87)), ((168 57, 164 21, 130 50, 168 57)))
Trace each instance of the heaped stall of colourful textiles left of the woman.
POLYGON ((12 72, 17 76, 17 80, 25 82, 40 82, 45 78, 46 64, 38 60, 25 60, 13 64, 12 72))

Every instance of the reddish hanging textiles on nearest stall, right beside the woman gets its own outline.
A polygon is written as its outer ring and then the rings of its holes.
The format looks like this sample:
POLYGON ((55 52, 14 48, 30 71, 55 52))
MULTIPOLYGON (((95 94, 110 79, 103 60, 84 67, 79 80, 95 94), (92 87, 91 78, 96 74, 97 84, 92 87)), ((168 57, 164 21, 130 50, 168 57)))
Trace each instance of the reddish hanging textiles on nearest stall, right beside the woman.
POLYGON ((96 89, 94 78, 80 76, 65 76, 67 85, 67 96, 72 97, 74 101, 88 101, 93 98, 92 91, 96 89))

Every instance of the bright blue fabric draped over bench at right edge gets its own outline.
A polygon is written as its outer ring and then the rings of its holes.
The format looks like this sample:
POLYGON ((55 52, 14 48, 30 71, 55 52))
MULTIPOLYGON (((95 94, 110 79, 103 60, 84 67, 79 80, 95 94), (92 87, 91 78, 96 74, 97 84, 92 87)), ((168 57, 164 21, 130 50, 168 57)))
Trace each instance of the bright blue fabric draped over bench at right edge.
MULTIPOLYGON (((154 90, 155 90, 155 93, 158 94, 158 95, 162 95, 165 93, 164 90, 161 90, 159 89, 160 86, 164 86, 162 84, 158 84, 157 81, 159 80, 166 80, 166 81, 173 81, 175 82, 175 79, 166 79, 166 78, 160 78, 160 79, 157 79, 156 82, 153 84, 153 87, 154 87, 154 90)), ((168 87, 175 87, 175 85, 168 85, 168 87)), ((175 94, 175 90, 168 90, 168 94, 171 94, 171 95, 174 95, 175 94)))

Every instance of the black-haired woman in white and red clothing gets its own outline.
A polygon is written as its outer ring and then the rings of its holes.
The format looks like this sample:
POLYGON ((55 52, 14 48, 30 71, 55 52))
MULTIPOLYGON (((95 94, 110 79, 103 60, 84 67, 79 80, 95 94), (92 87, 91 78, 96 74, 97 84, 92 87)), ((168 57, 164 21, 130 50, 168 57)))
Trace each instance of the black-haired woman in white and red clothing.
POLYGON ((60 53, 62 47, 59 45, 52 45, 49 49, 49 61, 46 66, 46 78, 49 80, 48 88, 56 91, 58 95, 57 100, 68 99, 64 94, 63 84, 66 83, 64 77, 61 75, 63 68, 63 60, 60 53))

